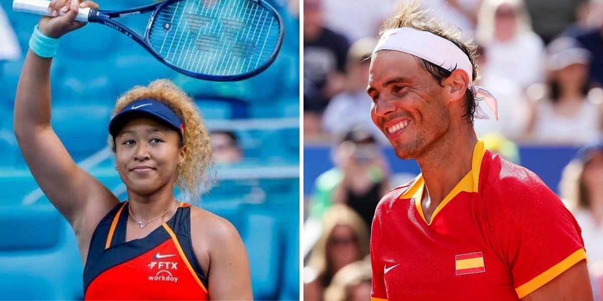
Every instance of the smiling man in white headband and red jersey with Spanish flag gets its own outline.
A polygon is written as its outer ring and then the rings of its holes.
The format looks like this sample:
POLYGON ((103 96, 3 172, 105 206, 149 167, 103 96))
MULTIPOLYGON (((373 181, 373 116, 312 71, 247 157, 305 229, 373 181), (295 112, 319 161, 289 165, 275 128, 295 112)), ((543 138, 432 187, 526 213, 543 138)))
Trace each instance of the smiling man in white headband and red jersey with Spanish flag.
POLYGON ((421 174, 389 191, 371 231, 372 300, 592 300, 581 231, 529 170, 484 149, 475 47, 416 3, 385 22, 373 122, 421 174))

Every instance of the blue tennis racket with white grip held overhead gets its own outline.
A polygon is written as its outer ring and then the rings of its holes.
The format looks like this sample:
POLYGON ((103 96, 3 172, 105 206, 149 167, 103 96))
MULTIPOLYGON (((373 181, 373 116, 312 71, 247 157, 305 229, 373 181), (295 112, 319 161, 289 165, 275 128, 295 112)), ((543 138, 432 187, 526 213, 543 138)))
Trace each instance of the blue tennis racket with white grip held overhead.
MULTIPOLYGON (((45 0, 14 0, 13 10, 49 15, 45 0)), ((283 20, 264 0, 167 0, 127 10, 80 8, 76 20, 107 25, 157 60, 199 79, 250 78, 273 63, 283 20), (144 37, 116 18, 151 13, 144 37)))

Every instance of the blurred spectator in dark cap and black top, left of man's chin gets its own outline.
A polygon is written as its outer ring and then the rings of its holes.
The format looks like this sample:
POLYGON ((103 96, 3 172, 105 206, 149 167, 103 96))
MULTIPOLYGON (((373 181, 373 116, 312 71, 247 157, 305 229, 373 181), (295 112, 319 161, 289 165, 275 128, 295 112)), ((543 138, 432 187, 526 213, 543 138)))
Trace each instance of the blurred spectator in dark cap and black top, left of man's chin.
POLYGON ((320 219, 333 203, 344 203, 371 225, 377 203, 389 189, 389 168, 374 136, 354 126, 333 150, 335 167, 318 176, 310 216, 320 219))

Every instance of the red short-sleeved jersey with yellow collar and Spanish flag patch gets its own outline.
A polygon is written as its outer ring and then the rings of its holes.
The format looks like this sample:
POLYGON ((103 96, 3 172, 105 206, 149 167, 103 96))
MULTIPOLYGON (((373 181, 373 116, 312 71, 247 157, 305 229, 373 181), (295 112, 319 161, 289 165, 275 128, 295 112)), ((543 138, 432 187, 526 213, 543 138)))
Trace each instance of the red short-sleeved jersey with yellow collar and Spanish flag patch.
POLYGON ((586 259, 581 230, 561 200, 482 141, 472 170, 430 223, 424 187, 419 175, 377 206, 372 300, 519 300, 586 259))

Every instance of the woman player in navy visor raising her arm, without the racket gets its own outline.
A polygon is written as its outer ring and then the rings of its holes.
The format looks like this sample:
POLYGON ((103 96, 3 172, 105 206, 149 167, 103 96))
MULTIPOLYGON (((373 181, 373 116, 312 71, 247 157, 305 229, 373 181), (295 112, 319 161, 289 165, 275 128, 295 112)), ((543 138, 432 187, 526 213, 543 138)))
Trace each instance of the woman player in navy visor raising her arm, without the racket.
POLYGON ((98 7, 53 0, 52 13, 65 14, 42 17, 36 26, 17 87, 14 131, 40 188, 75 231, 84 298, 251 299, 247 254, 236 229, 174 199, 174 185, 199 195, 212 156, 197 108, 182 90, 158 80, 117 101, 110 145, 127 202, 81 170, 52 130, 51 57, 56 39, 83 26, 75 21, 78 6, 98 7))

